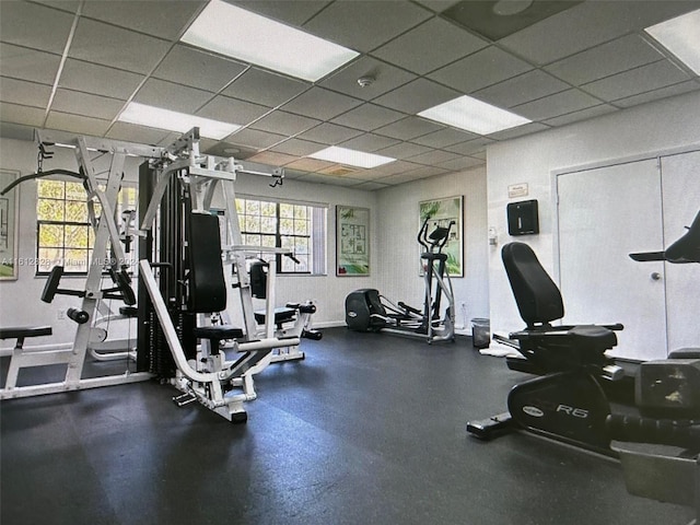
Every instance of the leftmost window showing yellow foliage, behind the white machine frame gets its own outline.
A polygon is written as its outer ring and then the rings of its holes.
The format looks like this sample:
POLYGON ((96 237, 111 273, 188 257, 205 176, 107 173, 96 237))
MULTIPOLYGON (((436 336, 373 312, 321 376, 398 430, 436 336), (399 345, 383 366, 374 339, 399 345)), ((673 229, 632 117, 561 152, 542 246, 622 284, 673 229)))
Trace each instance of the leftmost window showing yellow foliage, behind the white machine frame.
MULTIPOLYGON (((136 209, 136 187, 121 188, 117 223, 124 211, 136 209)), ((95 215, 100 215, 100 205, 95 205, 95 215)), ((57 265, 63 266, 66 273, 86 273, 95 234, 83 185, 69 180, 38 180, 36 219, 36 273, 45 275, 57 265)))

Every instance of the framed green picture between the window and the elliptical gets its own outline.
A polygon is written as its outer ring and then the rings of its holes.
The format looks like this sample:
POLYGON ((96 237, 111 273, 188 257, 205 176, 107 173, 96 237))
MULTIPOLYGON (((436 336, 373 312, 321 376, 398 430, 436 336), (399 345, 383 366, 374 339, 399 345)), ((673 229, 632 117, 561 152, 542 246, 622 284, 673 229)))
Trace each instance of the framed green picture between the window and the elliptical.
POLYGON ((370 275, 370 210, 336 207, 336 276, 370 275))

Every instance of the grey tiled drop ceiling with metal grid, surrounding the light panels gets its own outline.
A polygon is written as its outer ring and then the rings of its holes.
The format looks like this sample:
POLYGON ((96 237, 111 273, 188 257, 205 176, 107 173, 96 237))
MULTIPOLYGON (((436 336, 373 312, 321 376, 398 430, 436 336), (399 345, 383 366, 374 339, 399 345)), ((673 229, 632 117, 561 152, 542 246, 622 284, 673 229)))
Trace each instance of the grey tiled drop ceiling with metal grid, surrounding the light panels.
POLYGON ((536 0, 511 16, 494 14, 493 1, 229 3, 360 55, 306 82, 180 43, 206 1, 1 1, 0 135, 173 141, 177 133, 118 121, 138 102, 243 126, 202 139, 206 153, 375 190, 482 165, 495 141, 700 90, 643 32, 698 0, 536 0), (480 136, 417 116, 464 94, 532 124, 480 136), (397 160, 361 170, 307 158, 328 145, 397 160))

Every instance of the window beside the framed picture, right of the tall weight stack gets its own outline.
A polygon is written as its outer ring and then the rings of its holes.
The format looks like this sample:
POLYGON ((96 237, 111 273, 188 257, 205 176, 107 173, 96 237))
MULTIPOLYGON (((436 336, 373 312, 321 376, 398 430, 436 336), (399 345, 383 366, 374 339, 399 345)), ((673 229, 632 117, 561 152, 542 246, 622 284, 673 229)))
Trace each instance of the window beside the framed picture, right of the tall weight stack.
POLYGON ((237 198, 236 211, 243 244, 289 248, 299 260, 280 257, 279 273, 326 273, 325 207, 237 198))

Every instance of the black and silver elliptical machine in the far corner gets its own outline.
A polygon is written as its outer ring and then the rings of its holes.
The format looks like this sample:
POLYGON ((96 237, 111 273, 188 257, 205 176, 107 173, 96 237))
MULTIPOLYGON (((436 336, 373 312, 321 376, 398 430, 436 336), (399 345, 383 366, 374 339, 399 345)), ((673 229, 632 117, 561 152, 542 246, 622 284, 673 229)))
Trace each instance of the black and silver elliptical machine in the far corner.
POLYGON ((446 270, 447 254, 443 247, 450 240, 451 221, 446 226, 435 224, 432 232, 430 215, 418 232, 418 243, 423 248, 423 281, 425 296, 422 312, 404 302, 392 302, 378 290, 360 289, 346 298, 346 324, 357 331, 386 331, 420 337, 433 341, 455 340, 455 299, 450 272, 446 270), (441 313, 443 298, 447 303, 444 316, 441 313))

